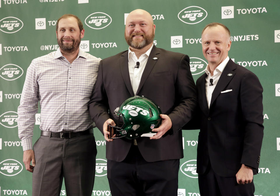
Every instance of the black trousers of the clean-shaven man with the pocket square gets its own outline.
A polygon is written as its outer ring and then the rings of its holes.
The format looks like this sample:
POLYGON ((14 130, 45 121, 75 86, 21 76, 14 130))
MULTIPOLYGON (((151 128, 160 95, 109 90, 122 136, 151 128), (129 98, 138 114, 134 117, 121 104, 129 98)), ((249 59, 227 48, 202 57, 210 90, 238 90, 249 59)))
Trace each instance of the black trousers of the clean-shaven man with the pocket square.
POLYGON ((210 162, 204 174, 198 174, 198 185, 201 196, 254 196, 253 181, 248 184, 238 184, 236 177, 218 176, 210 162))

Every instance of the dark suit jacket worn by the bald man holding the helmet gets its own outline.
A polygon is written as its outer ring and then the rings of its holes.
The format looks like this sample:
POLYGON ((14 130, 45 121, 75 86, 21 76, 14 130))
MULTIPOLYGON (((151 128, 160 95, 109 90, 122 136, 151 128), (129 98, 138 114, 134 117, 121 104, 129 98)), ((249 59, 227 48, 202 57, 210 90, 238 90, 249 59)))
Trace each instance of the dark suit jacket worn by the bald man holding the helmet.
MULTIPOLYGON (((143 71, 136 95, 153 100, 172 121, 173 132, 158 140, 137 138, 139 151, 148 162, 183 158, 182 126, 187 123, 197 105, 196 88, 187 55, 153 46, 143 71), (153 59, 156 57, 157 59, 153 59)), ((89 111, 103 134, 104 122, 127 98, 134 96, 128 70, 128 51, 100 61, 97 81, 89 111)), ((106 142, 106 158, 122 161, 132 145, 128 139, 106 142)))

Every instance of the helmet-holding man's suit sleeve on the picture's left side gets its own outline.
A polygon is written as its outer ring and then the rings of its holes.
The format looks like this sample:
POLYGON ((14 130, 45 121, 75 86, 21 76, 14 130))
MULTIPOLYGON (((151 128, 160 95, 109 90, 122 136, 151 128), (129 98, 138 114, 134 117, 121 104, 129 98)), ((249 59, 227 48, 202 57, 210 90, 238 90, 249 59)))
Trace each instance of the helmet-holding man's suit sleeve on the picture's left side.
POLYGON ((99 63, 98 75, 94 85, 92 96, 90 98, 90 102, 88 104, 88 109, 92 121, 95 122, 97 128, 101 131, 102 134, 104 134, 103 124, 107 119, 110 118, 110 115, 108 113, 108 98, 103 83, 102 60, 99 63))

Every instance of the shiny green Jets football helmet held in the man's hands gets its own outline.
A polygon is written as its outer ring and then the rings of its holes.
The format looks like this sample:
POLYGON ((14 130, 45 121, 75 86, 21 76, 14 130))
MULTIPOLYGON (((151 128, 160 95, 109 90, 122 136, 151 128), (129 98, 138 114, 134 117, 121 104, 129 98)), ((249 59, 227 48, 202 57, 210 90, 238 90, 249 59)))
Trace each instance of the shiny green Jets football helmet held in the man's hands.
POLYGON ((156 134, 156 132, 152 132, 152 129, 160 126, 160 114, 160 107, 152 100, 143 96, 130 97, 114 111, 118 122, 116 126, 108 125, 108 131, 111 133, 110 139, 152 137, 156 134), (114 134, 116 134, 115 137, 112 137, 114 134))

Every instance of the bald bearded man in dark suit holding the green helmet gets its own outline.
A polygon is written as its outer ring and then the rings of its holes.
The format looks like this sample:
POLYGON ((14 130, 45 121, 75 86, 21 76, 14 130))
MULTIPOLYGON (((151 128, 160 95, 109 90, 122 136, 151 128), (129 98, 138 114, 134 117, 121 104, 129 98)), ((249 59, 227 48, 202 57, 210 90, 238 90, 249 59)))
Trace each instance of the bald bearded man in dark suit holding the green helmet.
POLYGON ((154 33, 148 12, 129 13, 125 26, 129 50, 100 62, 89 104, 92 120, 107 141, 107 177, 114 196, 177 195, 179 159, 183 158, 181 128, 194 112, 196 88, 189 57, 155 47, 154 33), (156 135, 109 139, 107 125, 116 122, 113 111, 134 95, 160 107, 162 123, 153 129, 156 135))

